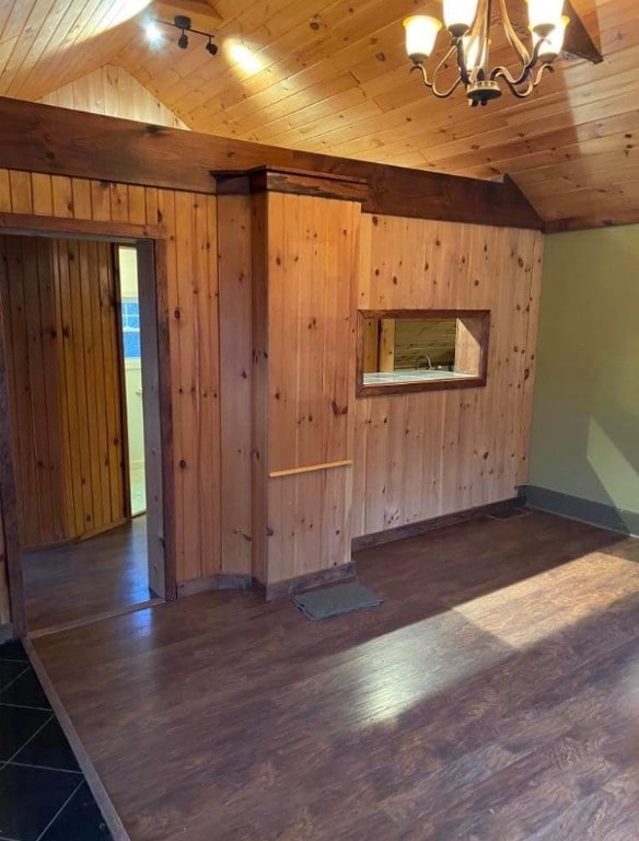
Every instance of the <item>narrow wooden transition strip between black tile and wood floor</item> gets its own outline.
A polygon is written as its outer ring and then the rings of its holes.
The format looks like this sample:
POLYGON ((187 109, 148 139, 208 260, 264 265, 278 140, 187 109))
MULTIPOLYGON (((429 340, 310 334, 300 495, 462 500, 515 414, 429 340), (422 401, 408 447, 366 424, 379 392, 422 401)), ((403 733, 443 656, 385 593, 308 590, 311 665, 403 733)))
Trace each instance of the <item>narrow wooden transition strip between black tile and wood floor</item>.
POLYGON ((39 655, 31 640, 24 640, 24 649, 28 655, 31 665, 33 666, 34 671, 37 675, 39 682, 42 683, 45 694, 49 700, 49 704, 51 705, 51 708, 58 718, 60 727, 62 728, 65 736, 71 746, 71 750, 75 754, 78 764, 82 769, 82 773, 86 779, 86 783, 91 788, 91 793, 93 794, 95 802, 100 806, 104 821, 111 830, 111 834, 113 836, 114 841, 130 841, 129 833, 125 829, 125 826, 121 822, 120 817, 117 814, 102 780, 97 775, 97 771, 89 758, 89 753, 86 752, 84 745, 82 744, 82 740, 80 739, 80 736, 78 735, 78 731, 73 726, 73 723, 71 722, 71 718, 69 717, 69 714, 67 713, 65 705, 58 692, 56 691, 56 688, 54 687, 47 670, 45 669, 44 664, 40 660, 39 655))

